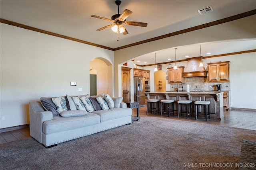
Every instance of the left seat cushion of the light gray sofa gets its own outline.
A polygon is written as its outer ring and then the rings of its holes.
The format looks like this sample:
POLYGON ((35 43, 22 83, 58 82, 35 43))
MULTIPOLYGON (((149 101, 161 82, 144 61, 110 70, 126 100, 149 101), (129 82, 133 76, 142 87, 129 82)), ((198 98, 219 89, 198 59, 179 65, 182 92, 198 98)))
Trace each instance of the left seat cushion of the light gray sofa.
POLYGON ((100 116, 94 113, 87 113, 86 115, 75 117, 53 116, 53 120, 44 121, 43 133, 47 135, 69 131, 98 123, 100 123, 100 116))

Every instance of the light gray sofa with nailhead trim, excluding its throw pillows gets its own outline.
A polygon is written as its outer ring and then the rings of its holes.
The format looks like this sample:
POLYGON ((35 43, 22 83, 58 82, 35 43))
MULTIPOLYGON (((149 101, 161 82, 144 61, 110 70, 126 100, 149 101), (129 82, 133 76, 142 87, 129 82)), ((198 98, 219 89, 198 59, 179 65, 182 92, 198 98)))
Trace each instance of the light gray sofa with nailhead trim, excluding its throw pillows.
MULTIPOLYGON (((74 112, 70 110, 70 112, 74 112)), ((132 109, 121 102, 120 108, 86 111, 85 115, 62 117, 45 111, 40 101, 29 103, 30 135, 46 148, 58 143, 130 124, 132 109)))

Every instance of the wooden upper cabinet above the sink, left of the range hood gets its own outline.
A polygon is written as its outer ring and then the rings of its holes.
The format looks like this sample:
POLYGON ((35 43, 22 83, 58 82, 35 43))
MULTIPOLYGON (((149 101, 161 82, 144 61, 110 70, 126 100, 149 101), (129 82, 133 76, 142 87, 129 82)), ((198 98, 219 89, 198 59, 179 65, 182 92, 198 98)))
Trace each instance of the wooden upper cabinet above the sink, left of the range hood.
POLYGON ((168 83, 182 83, 184 80, 183 72, 184 66, 178 66, 177 69, 173 67, 168 68, 168 83))

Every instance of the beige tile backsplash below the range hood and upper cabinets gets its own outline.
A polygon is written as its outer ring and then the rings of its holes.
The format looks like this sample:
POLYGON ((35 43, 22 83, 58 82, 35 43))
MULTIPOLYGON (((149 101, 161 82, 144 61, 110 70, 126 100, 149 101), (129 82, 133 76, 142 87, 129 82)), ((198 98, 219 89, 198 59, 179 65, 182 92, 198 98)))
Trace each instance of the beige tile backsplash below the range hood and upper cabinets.
MULTIPOLYGON (((216 90, 216 84, 221 84, 222 91, 230 91, 230 82, 209 83, 208 77, 186 77, 184 83, 182 83, 183 90, 187 90, 188 84, 190 90, 216 90)), ((176 90, 177 85, 178 84, 170 84, 170 91, 176 90)))

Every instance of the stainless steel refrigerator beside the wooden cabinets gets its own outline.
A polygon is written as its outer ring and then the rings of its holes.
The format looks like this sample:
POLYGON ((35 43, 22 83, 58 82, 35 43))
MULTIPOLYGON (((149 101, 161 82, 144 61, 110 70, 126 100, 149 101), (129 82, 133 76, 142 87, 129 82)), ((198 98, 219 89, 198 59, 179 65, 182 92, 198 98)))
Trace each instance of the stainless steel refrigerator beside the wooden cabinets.
POLYGON ((145 78, 134 77, 134 101, 145 106, 145 78))

